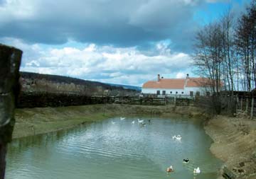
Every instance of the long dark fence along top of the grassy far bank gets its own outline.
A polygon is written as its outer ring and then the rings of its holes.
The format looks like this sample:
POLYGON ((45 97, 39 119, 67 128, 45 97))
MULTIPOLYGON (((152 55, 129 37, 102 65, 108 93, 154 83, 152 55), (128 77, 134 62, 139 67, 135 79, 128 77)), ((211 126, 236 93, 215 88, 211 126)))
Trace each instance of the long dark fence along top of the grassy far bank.
POLYGON ((129 105, 194 105, 194 98, 181 96, 86 96, 75 93, 22 92, 18 108, 58 107, 68 105, 89 105, 119 103, 129 105))

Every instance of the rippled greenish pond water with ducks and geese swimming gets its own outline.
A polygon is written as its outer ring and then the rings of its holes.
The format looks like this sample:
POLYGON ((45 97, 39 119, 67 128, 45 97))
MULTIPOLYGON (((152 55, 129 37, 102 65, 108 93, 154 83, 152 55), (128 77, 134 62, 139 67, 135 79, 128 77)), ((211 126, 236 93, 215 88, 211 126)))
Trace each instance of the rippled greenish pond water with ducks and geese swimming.
POLYGON ((212 141, 198 122, 141 119, 144 127, 137 117, 115 117, 16 139, 9 145, 6 178, 216 178, 221 162, 210 153, 212 141), (181 141, 172 139, 177 134, 181 141), (190 162, 183 163, 183 158, 190 162), (166 173, 170 165, 174 172, 166 173), (198 166, 201 174, 193 175, 198 166))

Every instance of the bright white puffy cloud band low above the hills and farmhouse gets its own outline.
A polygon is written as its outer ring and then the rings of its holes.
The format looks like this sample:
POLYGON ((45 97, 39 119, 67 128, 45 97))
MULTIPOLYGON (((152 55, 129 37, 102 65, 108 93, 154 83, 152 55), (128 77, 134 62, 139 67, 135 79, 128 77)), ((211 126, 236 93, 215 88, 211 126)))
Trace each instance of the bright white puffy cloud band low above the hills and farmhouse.
POLYGON ((8 39, 8 42, 24 51, 21 71, 73 76, 106 83, 141 86, 145 81, 156 79, 156 74, 175 76, 191 65, 188 54, 171 52, 166 42, 158 42, 151 55, 136 47, 88 44, 82 48, 45 48, 36 44, 30 46, 20 40, 8 39))

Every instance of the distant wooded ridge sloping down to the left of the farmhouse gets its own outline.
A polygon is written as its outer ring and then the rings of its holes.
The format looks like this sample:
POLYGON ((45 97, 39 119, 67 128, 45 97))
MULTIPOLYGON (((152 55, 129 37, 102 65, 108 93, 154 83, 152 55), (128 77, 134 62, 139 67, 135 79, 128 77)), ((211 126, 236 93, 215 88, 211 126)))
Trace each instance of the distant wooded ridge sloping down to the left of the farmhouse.
POLYGON ((56 93, 87 93, 88 95, 124 96, 138 92, 134 86, 113 85, 68 76, 37 74, 21 71, 22 91, 48 91, 56 93))

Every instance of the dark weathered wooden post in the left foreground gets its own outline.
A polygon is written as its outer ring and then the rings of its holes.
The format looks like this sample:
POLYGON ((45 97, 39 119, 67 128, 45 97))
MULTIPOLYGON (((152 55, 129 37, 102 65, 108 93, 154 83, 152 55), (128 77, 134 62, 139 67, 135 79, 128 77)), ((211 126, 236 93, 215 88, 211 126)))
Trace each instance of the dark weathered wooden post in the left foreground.
POLYGON ((14 129, 21 55, 21 50, 0 44, 0 179, 4 178, 7 144, 11 142, 14 129))

